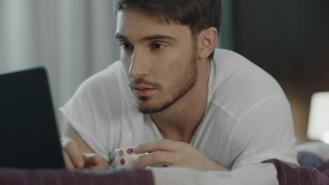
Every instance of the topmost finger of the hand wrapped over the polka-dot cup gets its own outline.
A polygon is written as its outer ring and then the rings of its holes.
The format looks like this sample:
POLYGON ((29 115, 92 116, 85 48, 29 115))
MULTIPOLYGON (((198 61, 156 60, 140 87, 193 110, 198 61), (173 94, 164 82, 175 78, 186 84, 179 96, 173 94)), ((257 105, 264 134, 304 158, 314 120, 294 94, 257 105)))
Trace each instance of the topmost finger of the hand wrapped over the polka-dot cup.
POLYGON ((145 144, 140 144, 135 146, 135 153, 146 153, 153 151, 180 151, 185 147, 186 143, 172 141, 169 139, 161 139, 154 142, 147 142, 145 144))

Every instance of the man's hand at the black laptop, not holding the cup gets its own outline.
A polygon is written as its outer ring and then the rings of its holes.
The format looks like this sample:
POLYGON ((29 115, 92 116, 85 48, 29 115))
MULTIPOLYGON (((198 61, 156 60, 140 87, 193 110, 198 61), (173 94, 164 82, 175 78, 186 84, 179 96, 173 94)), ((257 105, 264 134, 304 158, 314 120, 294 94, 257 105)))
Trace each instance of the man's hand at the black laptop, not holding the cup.
POLYGON ((63 147, 65 166, 69 170, 91 168, 101 163, 101 158, 96 156, 96 153, 83 153, 70 137, 62 137, 60 143, 63 147))

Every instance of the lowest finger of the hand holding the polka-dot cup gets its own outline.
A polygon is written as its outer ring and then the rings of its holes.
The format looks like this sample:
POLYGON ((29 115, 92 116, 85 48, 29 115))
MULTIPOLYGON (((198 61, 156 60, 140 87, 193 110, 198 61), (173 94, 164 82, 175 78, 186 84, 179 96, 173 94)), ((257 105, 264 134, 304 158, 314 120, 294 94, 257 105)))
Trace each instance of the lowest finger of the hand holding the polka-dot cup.
POLYGON ((155 151, 148 156, 143 156, 136 160, 136 163, 131 165, 132 168, 144 168, 153 165, 173 166, 176 164, 177 155, 174 152, 155 151))

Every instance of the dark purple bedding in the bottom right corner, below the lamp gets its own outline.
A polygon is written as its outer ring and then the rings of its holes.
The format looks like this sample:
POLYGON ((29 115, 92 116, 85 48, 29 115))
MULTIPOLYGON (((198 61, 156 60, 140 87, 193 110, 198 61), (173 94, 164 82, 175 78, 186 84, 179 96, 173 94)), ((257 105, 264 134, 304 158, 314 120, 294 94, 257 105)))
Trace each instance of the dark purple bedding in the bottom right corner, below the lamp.
POLYGON ((328 185, 329 160, 319 167, 290 167, 280 160, 271 159, 263 163, 273 163, 278 171, 280 185, 328 185))

